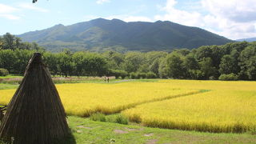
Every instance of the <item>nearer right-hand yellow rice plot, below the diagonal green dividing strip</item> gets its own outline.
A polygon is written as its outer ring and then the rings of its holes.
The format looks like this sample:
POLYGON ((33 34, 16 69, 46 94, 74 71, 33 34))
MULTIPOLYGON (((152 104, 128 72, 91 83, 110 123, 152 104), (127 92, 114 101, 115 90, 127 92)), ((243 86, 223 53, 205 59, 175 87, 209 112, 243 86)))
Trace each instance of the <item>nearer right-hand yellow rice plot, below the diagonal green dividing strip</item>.
POLYGON ((256 130, 256 91, 211 90, 143 104, 122 114, 144 126, 241 133, 256 130))

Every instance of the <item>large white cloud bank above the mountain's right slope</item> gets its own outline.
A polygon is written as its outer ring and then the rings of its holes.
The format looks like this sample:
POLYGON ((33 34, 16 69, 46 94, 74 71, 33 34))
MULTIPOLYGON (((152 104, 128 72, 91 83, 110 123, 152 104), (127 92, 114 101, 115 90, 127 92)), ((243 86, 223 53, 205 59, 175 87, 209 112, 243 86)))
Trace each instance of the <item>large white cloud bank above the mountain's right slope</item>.
POLYGON ((206 14, 199 10, 178 10, 177 3, 176 0, 166 0, 166 5, 161 6, 166 13, 154 18, 198 26, 231 39, 256 37, 255 0, 201 0, 198 6, 206 14))

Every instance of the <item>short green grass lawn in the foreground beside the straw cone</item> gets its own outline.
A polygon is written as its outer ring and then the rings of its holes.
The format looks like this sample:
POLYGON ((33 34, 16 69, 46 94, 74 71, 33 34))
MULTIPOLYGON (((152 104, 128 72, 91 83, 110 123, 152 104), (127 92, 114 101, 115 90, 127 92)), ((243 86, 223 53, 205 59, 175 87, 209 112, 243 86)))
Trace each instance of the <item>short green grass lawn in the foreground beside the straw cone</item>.
POLYGON ((140 143, 256 143, 252 134, 211 134, 195 131, 166 130, 143 126, 94 122, 88 118, 68 117, 78 144, 140 143))

